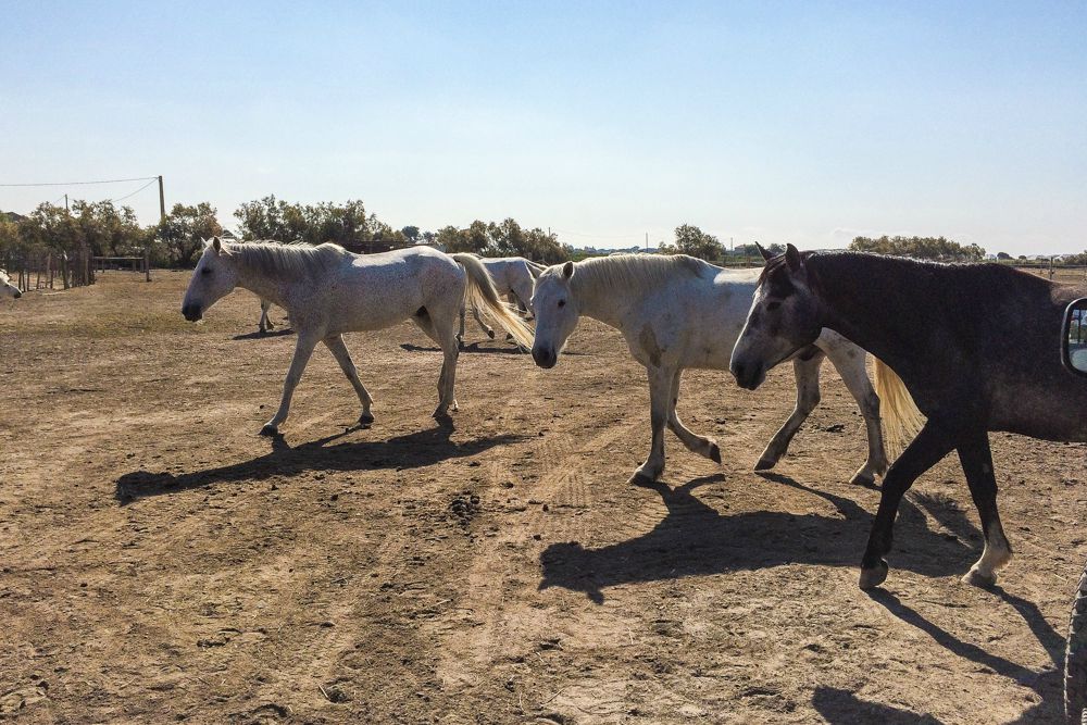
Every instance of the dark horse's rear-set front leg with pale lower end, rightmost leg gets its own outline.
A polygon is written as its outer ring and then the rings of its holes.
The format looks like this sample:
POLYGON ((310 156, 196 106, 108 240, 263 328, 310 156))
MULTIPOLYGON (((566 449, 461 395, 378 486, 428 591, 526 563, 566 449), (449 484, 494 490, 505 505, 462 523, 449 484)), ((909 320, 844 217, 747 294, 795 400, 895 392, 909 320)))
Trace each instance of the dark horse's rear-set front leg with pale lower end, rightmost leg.
POLYGON ((974 586, 990 587, 997 583, 997 570, 1011 561, 1012 548, 997 512, 997 478, 992 473, 988 434, 978 432, 960 445, 959 461, 966 474, 966 485, 970 486, 970 495, 974 499, 977 515, 982 520, 982 532, 985 534, 982 558, 962 580, 974 586))

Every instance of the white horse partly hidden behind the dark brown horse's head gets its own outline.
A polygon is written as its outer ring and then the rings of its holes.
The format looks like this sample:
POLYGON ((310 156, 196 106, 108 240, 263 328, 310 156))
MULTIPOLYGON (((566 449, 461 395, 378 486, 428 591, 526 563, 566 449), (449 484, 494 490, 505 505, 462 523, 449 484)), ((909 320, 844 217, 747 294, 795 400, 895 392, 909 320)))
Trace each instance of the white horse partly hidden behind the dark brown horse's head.
MULTIPOLYGON (((751 307, 761 270, 726 270, 684 254, 605 257, 548 267, 536 280, 533 359, 553 367, 580 315, 623 333, 635 360, 649 373, 652 445, 630 478, 657 480, 664 470, 664 426, 691 451, 721 463, 711 438, 691 433, 676 414, 679 380, 687 367, 728 370, 733 346, 751 307)), ((864 415, 869 458, 852 483, 871 485, 887 470, 879 428, 879 399, 864 368, 864 350, 824 330, 814 345, 792 355, 797 405, 755 464, 773 467, 820 400, 824 357, 838 370, 864 415)))

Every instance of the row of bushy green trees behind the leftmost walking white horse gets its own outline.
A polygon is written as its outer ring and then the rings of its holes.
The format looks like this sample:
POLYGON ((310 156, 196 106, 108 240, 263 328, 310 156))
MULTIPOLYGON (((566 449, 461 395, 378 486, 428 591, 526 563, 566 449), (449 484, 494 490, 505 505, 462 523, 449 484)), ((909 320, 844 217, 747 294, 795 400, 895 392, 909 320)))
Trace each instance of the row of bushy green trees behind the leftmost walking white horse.
MULTIPOLYGON (((475 221, 459 229, 425 232, 409 225, 392 228, 367 212, 360 200, 301 204, 267 196, 242 203, 234 212, 242 240, 275 239, 309 243, 336 242, 363 251, 439 245, 449 252, 484 257, 525 257, 553 264, 570 259, 569 245, 515 220, 475 221)), ((224 234, 217 210, 208 202, 174 204, 159 224, 141 226, 129 207, 111 201, 76 201, 71 210, 42 203, 27 215, 0 212, 0 260, 29 260, 48 253, 88 250, 95 257, 142 257, 153 266, 191 267, 202 240, 224 234)))

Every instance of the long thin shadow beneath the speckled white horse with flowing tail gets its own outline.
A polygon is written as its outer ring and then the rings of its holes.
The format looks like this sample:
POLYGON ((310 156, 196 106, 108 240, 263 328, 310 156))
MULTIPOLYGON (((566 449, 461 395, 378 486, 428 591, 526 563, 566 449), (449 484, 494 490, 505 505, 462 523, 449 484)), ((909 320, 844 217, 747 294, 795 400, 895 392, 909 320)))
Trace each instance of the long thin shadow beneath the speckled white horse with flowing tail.
POLYGON ((525 436, 502 434, 454 442, 449 439, 453 427, 447 421, 427 430, 396 436, 387 440, 328 445, 357 429, 349 428, 343 433, 300 446, 290 446, 283 436, 275 436, 272 438, 272 451, 264 455, 203 471, 182 474, 134 471, 117 478, 115 496, 121 505, 126 505, 136 499, 201 488, 211 484, 260 480, 268 476, 289 477, 307 471, 361 472, 418 468, 440 461, 475 455, 496 446, 525 439, 525 436))

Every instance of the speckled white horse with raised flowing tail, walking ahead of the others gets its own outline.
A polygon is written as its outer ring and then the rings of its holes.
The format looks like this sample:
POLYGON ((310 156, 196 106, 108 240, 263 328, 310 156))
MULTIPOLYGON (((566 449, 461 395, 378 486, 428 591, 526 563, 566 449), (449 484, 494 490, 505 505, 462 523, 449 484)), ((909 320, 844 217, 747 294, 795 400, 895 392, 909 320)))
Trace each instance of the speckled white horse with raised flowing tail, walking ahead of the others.
POLYGON ((359 380, 343 333, 382 329, 411 318, 441 346, 438 407, 445 418, 457 410, 457 313, 465 297, 493 315, 525 347, 532 329, 498 298, 487 271, 471 254, 445 254, 429 247, 380 254, 352 254, 339 245, 227 243, 204 248, 185 292, 182 314, 197 321, 223 296, 242 287, 285 309, 298 332, 279 409, 261 429, 276 435, 287 420, 290 397, 317 342, 324 342, 362 402, 360 424, 370 424, 373 398, 359 380))

